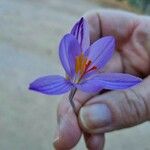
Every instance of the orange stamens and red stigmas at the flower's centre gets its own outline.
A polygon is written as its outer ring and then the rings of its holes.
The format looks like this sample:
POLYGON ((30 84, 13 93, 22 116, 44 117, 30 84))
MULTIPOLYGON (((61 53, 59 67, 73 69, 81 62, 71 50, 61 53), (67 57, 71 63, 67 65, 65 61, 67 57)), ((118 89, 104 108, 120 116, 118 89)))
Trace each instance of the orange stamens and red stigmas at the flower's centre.
POLYGON ((88 60, 84 54, 81 54, 76 57, 75 61, 75 72, 79 75, 79 80, 88 72, 96 70, 97 67, 93 66, 90 68, 90 65, 92 64, 91 60, 88 60))

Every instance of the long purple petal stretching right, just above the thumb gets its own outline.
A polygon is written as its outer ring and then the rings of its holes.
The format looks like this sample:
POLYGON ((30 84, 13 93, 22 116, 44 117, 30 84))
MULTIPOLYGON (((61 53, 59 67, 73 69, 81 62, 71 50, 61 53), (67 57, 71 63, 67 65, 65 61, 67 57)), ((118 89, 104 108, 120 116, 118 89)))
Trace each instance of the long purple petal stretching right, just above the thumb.
POLYGON ((101 73, 75 86, 85 92, 98 92, 100 89, 126 89, 141 81, 142 79, 129 74, 101 73))

